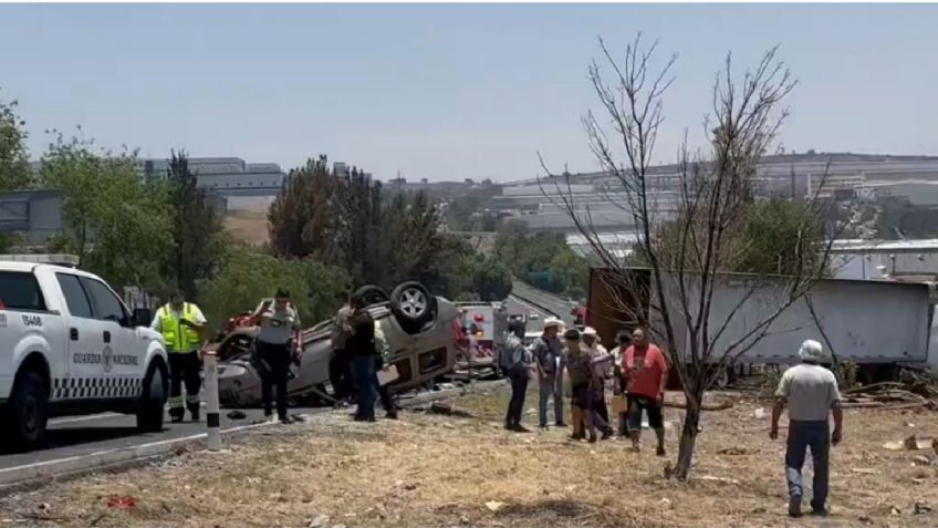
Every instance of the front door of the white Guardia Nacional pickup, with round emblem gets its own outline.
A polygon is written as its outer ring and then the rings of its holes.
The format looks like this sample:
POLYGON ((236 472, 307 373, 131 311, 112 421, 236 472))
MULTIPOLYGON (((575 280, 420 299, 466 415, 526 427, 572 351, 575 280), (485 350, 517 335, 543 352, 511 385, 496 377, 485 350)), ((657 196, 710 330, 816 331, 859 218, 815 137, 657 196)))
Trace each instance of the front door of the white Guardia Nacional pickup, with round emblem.
POLYGON ((142 382, 143 348, 136 346, 131 313, 101 280, 82 277, 94 318, 102 324, 102 354, 107 397, 133 397, 142 382))

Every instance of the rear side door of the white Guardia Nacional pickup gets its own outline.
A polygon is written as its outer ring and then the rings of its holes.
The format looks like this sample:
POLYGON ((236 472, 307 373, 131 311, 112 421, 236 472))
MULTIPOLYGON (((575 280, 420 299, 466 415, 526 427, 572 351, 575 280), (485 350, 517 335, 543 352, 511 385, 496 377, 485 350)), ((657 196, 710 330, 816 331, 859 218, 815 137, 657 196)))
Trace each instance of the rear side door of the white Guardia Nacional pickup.
POLYGON ((104 332, 106 324, 94 317, 91 297, 74 273, 56 272, 55 279, 69 307, 67 361, 69 379, 54 387, 55 397, 106 397, 107 385, 104 365, 104 332))

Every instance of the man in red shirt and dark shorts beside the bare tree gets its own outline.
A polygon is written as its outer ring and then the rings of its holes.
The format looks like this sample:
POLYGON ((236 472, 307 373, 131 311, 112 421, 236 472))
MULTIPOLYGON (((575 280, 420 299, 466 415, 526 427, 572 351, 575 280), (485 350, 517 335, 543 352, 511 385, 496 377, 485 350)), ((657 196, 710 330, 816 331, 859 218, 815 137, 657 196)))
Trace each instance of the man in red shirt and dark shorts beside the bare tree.
POLYGON ((645 329, 632 332, 632 346, 626 349, 622 370, 627 380, 628 436, 632 449, 639 451, 642 436, 642 411, 648 413, 648 425, 658 436, 658 456, 665 456, 665 423, 661 408, 665 403, 665 384, 668 380, 668 362, 661 349, 648 342, 645 329))

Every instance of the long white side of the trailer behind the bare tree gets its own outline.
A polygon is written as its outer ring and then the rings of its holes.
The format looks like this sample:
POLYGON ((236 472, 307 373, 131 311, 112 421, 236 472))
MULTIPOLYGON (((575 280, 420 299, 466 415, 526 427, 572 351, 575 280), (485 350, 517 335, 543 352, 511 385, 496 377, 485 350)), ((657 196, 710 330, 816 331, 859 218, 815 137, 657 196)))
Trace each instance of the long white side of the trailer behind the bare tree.
MULTIPOLYGON (((692 279, 685 277, 688 287, 692 279)), ((760 322, 784 304, 785 281, 747 275, 721 276, 713 293, 709 332, 715 335, 733 311, 711 361, 718 360, 732 343, 750 335, 760 322), (753 287, 754 292, 743 299, 753 287)), ((684 350, 688 332, 684 324, 677 276, 663 278, 665 294, 684 350)), ((656 291, 656 289, 652 289, 656 291)), ((690 300, 699 296, 689 294, 690 300)), ((812 290, 810 299, 820 327, 841 361, 859 364, 926 363, 931 329, 932 306, 925 283, 825 279, 812 290)), ((691 306, 690 312, 697 313, 691 306)), ((655 319, 652 311, 653 321, 655 319)), ((660 324, 660 321, 653 322, 660 324)), ((660 327, 659 327, 660 328, 660 327)), ((760 332, 743 340, 747 348, 760 332)), ((796 363, 798 349, 805 339, 827 345, 809 309, 807 298, 789 307, 768 328, 768 334, 749 348, 737 363, 796 363)))

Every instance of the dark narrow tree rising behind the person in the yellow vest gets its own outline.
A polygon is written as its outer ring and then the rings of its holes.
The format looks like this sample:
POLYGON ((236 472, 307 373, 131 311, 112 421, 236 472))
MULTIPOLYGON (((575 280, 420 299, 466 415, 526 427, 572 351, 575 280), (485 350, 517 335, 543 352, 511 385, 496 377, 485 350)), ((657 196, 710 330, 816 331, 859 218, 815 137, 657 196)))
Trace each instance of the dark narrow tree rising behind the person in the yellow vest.
POLYGON ((197 282, 218 267, 223 226, 205 189, 198 186, 198 178, 189 170, 185 152, 173 153, 166 184, 175 242, 166 261, 166 279, 195 299, 197 282))

